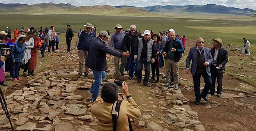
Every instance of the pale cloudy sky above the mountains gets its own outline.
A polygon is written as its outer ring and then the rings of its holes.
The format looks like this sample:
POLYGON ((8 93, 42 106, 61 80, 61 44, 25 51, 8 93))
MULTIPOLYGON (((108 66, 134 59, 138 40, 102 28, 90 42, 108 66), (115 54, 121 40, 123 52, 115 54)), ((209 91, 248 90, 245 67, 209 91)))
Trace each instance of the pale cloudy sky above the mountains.
POLYGON ((256 0, 0 0, 0 3, 20 3, 20 4, 38 4, 38 3, 69 3, 75 6, 91 5, 132 5, 136 7, 145 7, 153 5, 206 5, 219 4, 227 7, 251 8, 256 10, 256 0))

